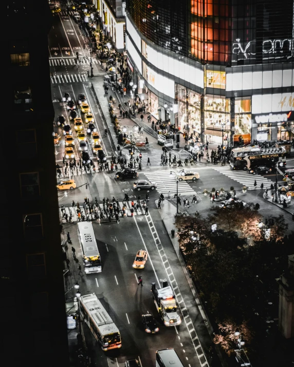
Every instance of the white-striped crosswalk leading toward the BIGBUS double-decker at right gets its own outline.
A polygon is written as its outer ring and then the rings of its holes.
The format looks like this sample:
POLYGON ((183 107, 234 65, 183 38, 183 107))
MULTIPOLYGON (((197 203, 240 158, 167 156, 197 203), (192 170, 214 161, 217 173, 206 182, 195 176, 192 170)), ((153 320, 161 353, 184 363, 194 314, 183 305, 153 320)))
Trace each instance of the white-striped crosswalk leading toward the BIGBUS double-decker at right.
POLYGON ((248 187, 248 190, 254 190, 256 188, 260 188, 260 185, 263 183, 264 188, 270 188, 270 185, 273 182, 261 175, 252 175, 248 173, 248 171, 233 171, 228 166, 221 166, 214 168, 219 173, 223 173, 223 175, 231 178, 234 181, 241 183, 248 187), (256 180, 256 188, 254 187, 254 181, 256 180))

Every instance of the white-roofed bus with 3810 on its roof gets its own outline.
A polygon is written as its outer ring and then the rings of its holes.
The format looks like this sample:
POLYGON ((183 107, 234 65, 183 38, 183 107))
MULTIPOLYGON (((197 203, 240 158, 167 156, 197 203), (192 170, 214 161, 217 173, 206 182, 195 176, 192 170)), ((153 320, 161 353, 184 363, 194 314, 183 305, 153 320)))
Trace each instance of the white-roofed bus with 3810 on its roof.
POLYGON ((80 297, 80 312, 104 352, 120 348, 120 332, 95 295, 80 297))

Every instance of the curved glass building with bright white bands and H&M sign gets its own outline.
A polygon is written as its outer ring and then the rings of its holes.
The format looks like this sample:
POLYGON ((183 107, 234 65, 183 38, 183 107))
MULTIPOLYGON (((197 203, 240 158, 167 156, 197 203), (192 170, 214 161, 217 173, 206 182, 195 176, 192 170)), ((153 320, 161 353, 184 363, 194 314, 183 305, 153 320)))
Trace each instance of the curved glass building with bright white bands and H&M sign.
POLYGON ((149 111, 203 142, 291 140, 293 0, 128 0, 127 63, 149 111))

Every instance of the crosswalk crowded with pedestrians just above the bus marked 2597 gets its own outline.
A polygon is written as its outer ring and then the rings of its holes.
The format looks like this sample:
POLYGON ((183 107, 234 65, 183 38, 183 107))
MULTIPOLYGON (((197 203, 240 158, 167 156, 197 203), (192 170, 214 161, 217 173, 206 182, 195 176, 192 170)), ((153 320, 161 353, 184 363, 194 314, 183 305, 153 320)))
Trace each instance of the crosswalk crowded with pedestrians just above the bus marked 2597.
MULTIPOLYGON (((142 200, 141 201, 134 201, 135 206, 134 206, 134 213, 133 216, 142 216, 145 215, 145 209, 142 206, 142 200), (139 204, 139 207, 136 208, 136 204, 139 204)), ((120 208, 120 214, 119 217, 121 217, 122 214, 122 207, 126 205, 126 215, 127 217, 131 217, 131 208, 132 208, 132 201, 119 201, 119 208, 120 208)), ((82 206, 80 204, 80 210, 81 210, 81 215, 84 215, 85 218, 87 218, 87 215, 89 216, 90 220, 95 220, 95 213, 99 214, 99 217, 101 216, 101 211, 103 211, 103 204, 100 203, 98 205, 93 204, 93 212, 91 213, 91 211, 89 209, 87 209, 85 206, 82 206)), ((77 207, 60 207, 59 208, 59 216, 60 216, 60 220, 61 222, 66 222, 66 215, 67 215, 67 220, 69 220, 69 218, 71 217, 72 222, 77 222, 78 221, 78 214, 77 214, 77 207)), ((107 215, 104 214, 105 219, 107 219, 107 215)), ((113 220, 115 219, 115 217, 113 217, 113 220)))

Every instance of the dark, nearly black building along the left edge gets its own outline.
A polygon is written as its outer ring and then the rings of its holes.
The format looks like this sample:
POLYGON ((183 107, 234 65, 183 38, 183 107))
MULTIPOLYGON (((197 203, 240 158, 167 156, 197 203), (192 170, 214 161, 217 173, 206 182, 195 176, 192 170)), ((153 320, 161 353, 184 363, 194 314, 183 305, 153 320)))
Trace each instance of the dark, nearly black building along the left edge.
POLYGON ((47 0, 6 1, 1 365, 69 366, 47 0), (36 9, 38 12, 36 12, 36 9), (17 25, 13 27, 12 25, 17 25))

